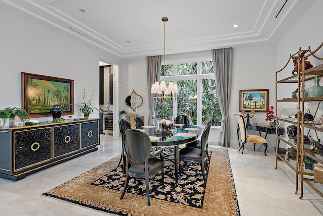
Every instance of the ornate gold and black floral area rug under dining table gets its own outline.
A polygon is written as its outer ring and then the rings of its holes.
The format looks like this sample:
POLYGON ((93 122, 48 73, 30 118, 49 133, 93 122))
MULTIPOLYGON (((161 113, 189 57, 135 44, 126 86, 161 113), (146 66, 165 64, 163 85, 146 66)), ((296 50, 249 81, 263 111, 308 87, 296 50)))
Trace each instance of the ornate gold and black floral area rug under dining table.
POLYGON ((117 167, 120 156, 53 188, 42 195, 116 215, 240 215, 229 154, 209 148, 211 161, 207 183, 199 164, 182 166, 178 185, 174 177, 173 148, 164 148, 165 179, 149 178, 150 206, 144 180, 130 178, 120 200, 125 174, 117 167))

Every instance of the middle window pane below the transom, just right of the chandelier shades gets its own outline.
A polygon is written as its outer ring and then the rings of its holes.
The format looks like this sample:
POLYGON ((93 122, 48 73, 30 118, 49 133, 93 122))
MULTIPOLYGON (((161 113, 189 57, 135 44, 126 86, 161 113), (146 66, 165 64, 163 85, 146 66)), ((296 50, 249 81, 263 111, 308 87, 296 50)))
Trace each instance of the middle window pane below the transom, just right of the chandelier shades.
POLYGON ((178 81, 178 99, 177 115, 186 115, 192 121, 193 125, 197 124, 196 114, 196 80, 178 81))

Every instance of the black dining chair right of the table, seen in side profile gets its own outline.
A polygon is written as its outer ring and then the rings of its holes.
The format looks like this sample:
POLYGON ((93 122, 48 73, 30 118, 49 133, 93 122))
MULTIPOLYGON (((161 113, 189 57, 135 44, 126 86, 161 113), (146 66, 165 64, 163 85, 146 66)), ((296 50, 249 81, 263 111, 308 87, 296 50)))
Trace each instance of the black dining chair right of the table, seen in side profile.
MULTIPOLYGON (((202 176, 204 179, 204 182, 206 184, 206 177, 205 177, 205 171, 208 173, 207 169, 207 155, 206 155, 206 148, 207 148, 207 139, 208 134, 211 128, 211 124, 208 124, 201 136, 201 148, 195 148, 195 147, 184 147, 179 151, 179 160, 184 162, 191 162, 191 163, 200 163, 202 176)), ((182 165, 180 163, 180 173, 182 170, 182 165)))

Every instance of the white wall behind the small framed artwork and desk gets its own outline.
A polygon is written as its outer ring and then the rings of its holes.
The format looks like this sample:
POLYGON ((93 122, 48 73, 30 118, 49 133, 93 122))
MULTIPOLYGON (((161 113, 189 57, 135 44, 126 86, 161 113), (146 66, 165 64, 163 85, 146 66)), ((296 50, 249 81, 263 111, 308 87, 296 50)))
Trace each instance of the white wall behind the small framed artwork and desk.
MULTIPOLYGON (((239 112, 240 89, 269 89, 268 105, 275 105, 275 59, 276 48, 273 45, 253 46, 233 49, 232 89, 230 100, 231 145, 237 145, 236 119, 233 113, 239 112)), ((257 112, 251 119, 257 124, 268 125, 264 112, 257 112)), ((250 133, 253 133, 250 131, 250 133)), ((255 132, 254 134, 258 134, 255 132)), ((267 136, 268 146, 273 146, 275 137, 267 136)))

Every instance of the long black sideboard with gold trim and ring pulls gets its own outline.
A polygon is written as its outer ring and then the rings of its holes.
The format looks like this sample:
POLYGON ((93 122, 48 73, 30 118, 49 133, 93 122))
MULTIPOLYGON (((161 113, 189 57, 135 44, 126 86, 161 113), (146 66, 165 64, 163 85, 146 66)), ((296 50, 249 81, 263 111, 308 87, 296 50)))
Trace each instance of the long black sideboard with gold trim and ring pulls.
POLYGON ((0 178, 18 181, 27 174, 96 151, 99 119, 0 127, 0 178))

